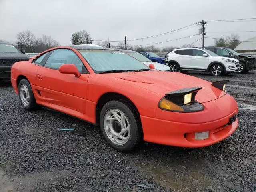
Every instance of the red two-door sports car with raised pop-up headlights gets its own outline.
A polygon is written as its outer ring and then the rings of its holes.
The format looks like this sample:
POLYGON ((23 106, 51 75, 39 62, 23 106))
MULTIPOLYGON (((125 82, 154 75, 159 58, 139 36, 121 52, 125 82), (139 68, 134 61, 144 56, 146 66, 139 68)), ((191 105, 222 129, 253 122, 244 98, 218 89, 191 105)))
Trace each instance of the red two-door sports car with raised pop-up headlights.
POLYGON ((203 147, 238 127, 226 81, 156 71, 118 50, 56 47, 16 62, 12 86, 26 110, 46 106, 100 125, 110 146, 147 142, 203 147))

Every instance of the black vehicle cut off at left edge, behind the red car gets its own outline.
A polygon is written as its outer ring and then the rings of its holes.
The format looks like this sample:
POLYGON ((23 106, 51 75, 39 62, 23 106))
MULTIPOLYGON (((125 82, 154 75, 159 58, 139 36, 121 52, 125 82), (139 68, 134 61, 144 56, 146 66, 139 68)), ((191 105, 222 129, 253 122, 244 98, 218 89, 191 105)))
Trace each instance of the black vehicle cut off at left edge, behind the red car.
POLYGON ((15 62, 29 60, 29 56, 24 53, 24 50, 18 50, 13 44, 0 42, 0 80, 10 79, 15 62))

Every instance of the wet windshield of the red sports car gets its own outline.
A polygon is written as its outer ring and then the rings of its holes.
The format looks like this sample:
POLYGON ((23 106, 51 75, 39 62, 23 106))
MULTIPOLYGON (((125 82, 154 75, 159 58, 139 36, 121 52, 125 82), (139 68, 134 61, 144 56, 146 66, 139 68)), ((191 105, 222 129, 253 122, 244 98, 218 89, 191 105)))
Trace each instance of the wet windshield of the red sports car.
POLYGON ((112 70, 150 70, 148 66, 121 51, 79 50, 96 73, 112 70))

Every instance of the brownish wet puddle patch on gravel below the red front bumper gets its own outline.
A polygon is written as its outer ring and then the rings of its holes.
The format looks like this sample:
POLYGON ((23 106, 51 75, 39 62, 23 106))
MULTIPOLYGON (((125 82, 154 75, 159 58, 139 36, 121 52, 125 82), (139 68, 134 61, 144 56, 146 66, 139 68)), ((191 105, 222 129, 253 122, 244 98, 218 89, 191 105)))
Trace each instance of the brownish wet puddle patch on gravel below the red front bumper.
POLYGON ((153 176, 163 186, 168 186, 176 192, 201 191, 211 185, 211 179, 201 171, 203 162, 167 162, 161 163, 138 162, 140 171, 153 176))

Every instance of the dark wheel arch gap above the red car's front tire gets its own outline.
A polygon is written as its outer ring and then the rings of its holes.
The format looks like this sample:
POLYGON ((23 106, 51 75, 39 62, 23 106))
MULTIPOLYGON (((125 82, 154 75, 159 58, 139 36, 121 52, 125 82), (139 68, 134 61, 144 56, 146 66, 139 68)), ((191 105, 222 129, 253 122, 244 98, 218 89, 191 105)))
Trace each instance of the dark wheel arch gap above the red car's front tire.
MULTIPOLYGON (((96 105, 96 124, 99 124, 100 122, 100 112, 103 108, 103 106, 112 100, 116 100, 116 101, 120 101, 124 104, 128 104, 128 106, 132 109, 132 112, 134 113, 134 115, 136 116, 136 118, 138 118, 138 122, 139 122, 139 126, 141 126, 141 120, 140 120, 140 113, 138 111, 138 108, 135 106, 135 104, 126 96, 124 96, 123 94, 120 93, 116 93, 116 92, 107 92, 102 94, 102 96, 100 96, 100 98, 98 99, 97 105, 96 105)), ((141 129, 142 130, 142 129, 141 129)))

